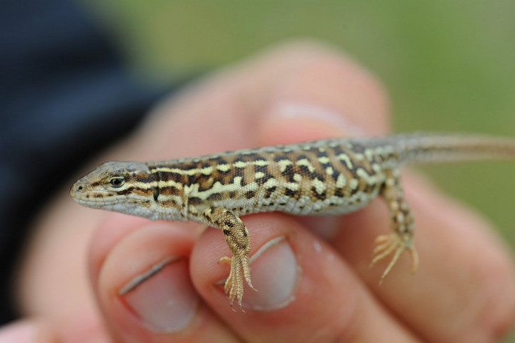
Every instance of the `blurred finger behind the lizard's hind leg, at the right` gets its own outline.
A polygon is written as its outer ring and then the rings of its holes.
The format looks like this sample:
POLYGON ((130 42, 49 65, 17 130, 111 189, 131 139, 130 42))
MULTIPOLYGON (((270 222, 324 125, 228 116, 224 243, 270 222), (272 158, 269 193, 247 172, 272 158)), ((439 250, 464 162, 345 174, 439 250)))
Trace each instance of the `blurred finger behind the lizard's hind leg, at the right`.
POLYGON ((407 257, 382 286, 378 277, 386 264, 367 267, 374 237, 388 230, 388 212, 380 201, 347 216, 332 242, 378 298, 424 339, 488 342, 501 337, 513 322, 515 304, 514 268, 506 250, 484 221, 421 179, 406 176, 420 257, 415 276, 408 272, 407 257))

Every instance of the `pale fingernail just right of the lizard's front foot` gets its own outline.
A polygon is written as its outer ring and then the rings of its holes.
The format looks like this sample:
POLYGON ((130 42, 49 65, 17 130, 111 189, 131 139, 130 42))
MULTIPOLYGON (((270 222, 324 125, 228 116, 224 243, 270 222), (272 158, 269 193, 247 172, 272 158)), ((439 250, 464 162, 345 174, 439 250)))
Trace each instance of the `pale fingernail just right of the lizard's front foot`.
POLYGON ((265 243, 250 257, 250 270, 253 285, 258 291, 249 287, 245 289, 245 308, 276 310, 294 301, 301 268, 284 236, 265 243))

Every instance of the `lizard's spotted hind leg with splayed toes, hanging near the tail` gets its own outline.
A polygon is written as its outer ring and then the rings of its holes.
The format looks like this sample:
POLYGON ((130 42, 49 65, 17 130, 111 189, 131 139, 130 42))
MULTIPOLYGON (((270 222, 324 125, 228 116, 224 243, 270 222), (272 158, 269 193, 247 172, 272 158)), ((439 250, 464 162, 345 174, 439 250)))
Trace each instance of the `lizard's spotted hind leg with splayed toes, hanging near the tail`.
POLYGON ((381 195, 386 199, 390 211, 391 233, 381 235, 376 238, 376 248, 374 249, 374 259, 370 266, 393 254, 392 260, 381 275, 381 281, 386 278, 399 260, 400 255, 407 250, 412 258, 411 272, 415 273, 418 267, 418 255, 413 245, 414 223, 411 209, 408 207, 404 197, 403 189, 400 187, 400 176, 398 170, 386 170, 386 180, 381 191, 381 195))

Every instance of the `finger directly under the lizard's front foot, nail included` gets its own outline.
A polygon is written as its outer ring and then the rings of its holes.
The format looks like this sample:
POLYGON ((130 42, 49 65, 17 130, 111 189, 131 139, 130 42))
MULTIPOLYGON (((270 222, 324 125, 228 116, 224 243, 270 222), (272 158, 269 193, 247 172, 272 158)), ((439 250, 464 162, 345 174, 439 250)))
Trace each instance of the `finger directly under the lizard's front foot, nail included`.
POLYGON ((192 281, 211 308, 249 342, 415 342, 376 302, 338 255, 282 214, 245 216, 250 231, 253 291, 231 310, 223 283, 224 237, 208 229, 192 252, 192 281), (374 327, 374 330, 371 330, 374 327))

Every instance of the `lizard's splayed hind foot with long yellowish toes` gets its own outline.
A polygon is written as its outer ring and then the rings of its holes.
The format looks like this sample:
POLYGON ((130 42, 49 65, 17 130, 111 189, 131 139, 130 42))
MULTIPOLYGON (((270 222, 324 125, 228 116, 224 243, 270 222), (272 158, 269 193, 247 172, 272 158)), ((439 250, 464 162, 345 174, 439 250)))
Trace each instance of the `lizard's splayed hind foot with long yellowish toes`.
POLYGON ((411 272, 415 274, 418 268, 418 254, 415 246, 412 243, 411 239, 403 239, 397 233, 390 233, 389 235, 381 235, 376 238, 376 248, 374 248, 374 258, 370 263, 370 267, 374 266, 376 262, 379 262, 389 255, 393 254, 392 260, 386 267, 385 271, 381 275, 381 280, 379 284, 383 283, 383 280, 388 276, 391 269, 398 262, 400 255, 403 254, 405 250, 410 252, 412 267, 411 272))

